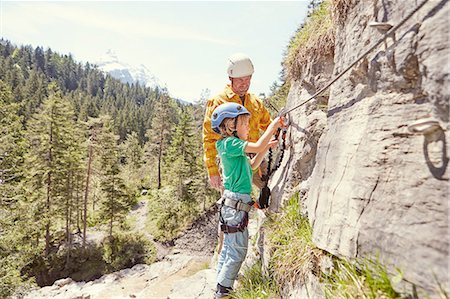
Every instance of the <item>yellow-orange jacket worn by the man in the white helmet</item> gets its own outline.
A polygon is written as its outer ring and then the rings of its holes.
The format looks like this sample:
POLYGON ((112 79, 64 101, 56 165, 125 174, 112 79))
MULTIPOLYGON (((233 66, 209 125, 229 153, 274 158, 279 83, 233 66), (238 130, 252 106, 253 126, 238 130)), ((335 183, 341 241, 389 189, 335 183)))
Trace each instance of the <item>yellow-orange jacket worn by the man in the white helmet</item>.
MULTIPOLYGON (((220 135, 211 129, 211 114, 217 106, 227 102, 242 104, 239 95, 233 92, 229 84, 221 94, 209 99, 206 104, 205 119, 203 121, 203 149, 204 160, 210 177, 219 175, 219 169, 216 164, 216 141, 220 139, 220 135)), ((272 121, 269 111, 267 111, 258 97, 250 93, 245 95, 244 107, 251 113, 248 141, 256 142, 261 135, 260 130, 264 132, 272 121)))

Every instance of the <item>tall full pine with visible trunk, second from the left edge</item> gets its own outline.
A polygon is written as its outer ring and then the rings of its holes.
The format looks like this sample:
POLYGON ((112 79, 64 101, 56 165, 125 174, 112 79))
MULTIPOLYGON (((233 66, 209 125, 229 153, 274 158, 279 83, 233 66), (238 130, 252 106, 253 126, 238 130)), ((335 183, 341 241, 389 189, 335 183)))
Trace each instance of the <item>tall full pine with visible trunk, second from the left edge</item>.
POLYGON ((49 85, 49 97, 41 110, 33 115, 29 128, 27 197, 34 207, 36 228, 45 231, 45 254, 48 255, 52 229, 57 228, 55 220, 69 217, 72 205, 70 171, 76 163, 72 157, 75 143, 73 109, 56 84, 49 85))

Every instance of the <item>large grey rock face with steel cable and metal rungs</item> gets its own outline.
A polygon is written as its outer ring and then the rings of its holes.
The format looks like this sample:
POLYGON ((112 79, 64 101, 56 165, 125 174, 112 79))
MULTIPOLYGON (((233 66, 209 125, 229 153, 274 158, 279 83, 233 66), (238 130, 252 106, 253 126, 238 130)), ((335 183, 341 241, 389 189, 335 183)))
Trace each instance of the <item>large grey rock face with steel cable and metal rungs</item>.
MULTIPOLYGON (((337 28, 334 65, 322 61, 332 66, 321 68, 323 78, 383 35, 370 22, 396 25, 417 4, 355 3, 337 28)), ((288 159, 271 182, 278 210, 307 180, 303 198, 318 247, 346 257, 379 254, 428 293, 436 281, 449 282, 449 7, 429 1, 333 84, 326 118, 307 106, 291 113, 288 159), (424 118, 439 125, 426 134, 408 130, 424 118)), ((315 76, 293 82, 287 107, 313 94, 302 82, 315 76)))

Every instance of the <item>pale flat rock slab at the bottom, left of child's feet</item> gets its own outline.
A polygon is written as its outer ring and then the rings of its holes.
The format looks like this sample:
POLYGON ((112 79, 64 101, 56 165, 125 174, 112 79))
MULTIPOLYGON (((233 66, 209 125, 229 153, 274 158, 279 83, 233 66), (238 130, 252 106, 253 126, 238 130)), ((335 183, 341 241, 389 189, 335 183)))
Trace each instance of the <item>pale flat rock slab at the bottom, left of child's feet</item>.
POLYGON ((169 254, 152 265, 135 265, 90 282, 60 279, 25 298, 211 298, 215 289, 215 271, 209 267, 210 260, 208 256, 181 252, 169 254))

